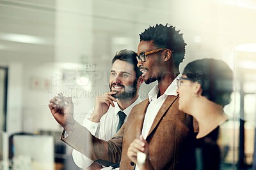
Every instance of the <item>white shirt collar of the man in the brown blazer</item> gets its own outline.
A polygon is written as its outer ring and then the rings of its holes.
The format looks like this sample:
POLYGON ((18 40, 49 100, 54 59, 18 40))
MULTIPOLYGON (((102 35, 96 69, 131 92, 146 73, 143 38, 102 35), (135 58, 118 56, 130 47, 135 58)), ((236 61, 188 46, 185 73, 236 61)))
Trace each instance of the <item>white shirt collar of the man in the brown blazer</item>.
MULTIPOLYGON (((179 77, 180 74, 177 76, 179 77)), ((168 86, 168 88, 165 90, 164 94, 163 95, 166 95, 166 96, 177 96, 177 77, 172 81, 172 83, 168 86)), ((151 102, 153 99, 157 99, 157 94, 159 92, 159 87, 158 87, 158 83, 157 85, 155 85, 153 87, 152 90, 150 90, 150 92, 148 93, 148 99, 149 99, 149 102, 151 102)))

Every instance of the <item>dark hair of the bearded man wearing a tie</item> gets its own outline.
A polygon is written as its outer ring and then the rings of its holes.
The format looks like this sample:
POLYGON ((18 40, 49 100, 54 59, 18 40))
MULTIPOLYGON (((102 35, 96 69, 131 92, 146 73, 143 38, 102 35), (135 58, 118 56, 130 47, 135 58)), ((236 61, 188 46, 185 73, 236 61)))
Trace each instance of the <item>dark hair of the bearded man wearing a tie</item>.
POLYGON ((115 57, 112 59, 112 65, 116 60, 123 60, 123 61, 129 62, 134 66, 133 69, 136 73, 136 78, 138 80, 138 78, 141 76, 142 73, 140 71, 140 68, 137 67, 138 60, 136 59, 136 57, 137 57, 137 53, 132 50, 126 50, 126 49, 120 50, 120 52, 116 52, 115 57))

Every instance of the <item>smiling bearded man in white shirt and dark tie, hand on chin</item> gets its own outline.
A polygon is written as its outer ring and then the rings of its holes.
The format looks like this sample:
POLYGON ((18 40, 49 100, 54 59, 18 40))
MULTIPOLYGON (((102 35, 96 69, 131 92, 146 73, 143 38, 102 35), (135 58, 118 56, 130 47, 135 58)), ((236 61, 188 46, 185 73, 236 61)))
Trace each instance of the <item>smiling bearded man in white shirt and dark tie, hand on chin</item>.
MULTIPOLYGON (((131 50, 121 50, 113 58, 109 77, 110 91, 96 98, 94 108, 83 121, 83 126, 93 136, 106 141, 111 139, 121 124, 126 122, 133 106, 141 102, 138 90, 143 79, 140 69, 136 66, 136 56, 131 50)), ((108 166, 113 164, 102 160, 94 162, 77 150, 73 150, 72 157, 78 167, 88 170, 101 169, 100 163, 108 166)))

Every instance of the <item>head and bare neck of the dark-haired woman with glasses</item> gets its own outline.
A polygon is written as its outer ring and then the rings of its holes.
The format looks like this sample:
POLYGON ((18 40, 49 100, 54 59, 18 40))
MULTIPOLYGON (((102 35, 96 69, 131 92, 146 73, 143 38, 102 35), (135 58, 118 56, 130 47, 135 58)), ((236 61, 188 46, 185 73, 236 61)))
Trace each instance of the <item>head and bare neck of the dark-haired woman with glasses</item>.
POLYGON ((228 120, 223 108, 230 103, 233 73, 222 60, 190 62, 177 78, 179 110, 195 117, 202 138, 228 120))

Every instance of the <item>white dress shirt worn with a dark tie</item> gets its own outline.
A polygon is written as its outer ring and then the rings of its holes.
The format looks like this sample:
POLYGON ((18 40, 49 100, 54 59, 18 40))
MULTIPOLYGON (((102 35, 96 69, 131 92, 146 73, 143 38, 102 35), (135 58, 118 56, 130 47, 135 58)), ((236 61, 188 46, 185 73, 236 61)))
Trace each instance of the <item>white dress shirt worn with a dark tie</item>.
MULTIPOLYGON (((134 101, 128 108, 124 111, 125 115, 128 117, 132 108, 141 102, 140 97, 134 101)), ((108 141, 111 139, 114 134, 116 134, 116 128, 119 122, 118 111, 121 109, 119 108, 118 104, 114 102, 115 107, 110 106, 107 113, 100 118, 100 122, 92 122, 90 121, 90 117, 92 116, 93 109, 86 114, 86 118, 83 121, 83 126, 88 129, 92 133, 93 136, 97 138, 103 139, 108 141)), ((127 117, 125 117, 124 122, 126 122, 127 117)), ((72 156, 74 162, 78 167, 86 168, 93 164, 93 160, 90 160, 88 157, 84 156, 82 153, 78 152, 77 150, 73 150, 72 156)), ((103 168, 105 169, 105 168, 103 168)), ((109 168, 112 169, 112 168, 109 168)), ((118 168, 119 169, 119 168, 118 168)))

